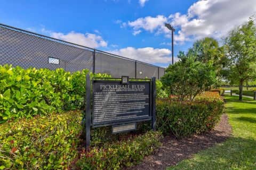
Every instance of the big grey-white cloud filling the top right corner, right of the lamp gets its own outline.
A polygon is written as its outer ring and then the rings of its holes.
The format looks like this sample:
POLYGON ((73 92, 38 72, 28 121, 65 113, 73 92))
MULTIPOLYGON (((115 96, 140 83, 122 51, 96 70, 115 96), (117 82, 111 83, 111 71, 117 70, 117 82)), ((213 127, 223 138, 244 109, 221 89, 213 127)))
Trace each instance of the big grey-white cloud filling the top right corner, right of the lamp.
POLYGON ((186 15, 175 14, 170 19, 174 27, 180 28, 179 35, 195 39, 205 36, 220 38, 246 22, 255 11, 255 0, 208 0, 198 1, 189 7, 186 15))

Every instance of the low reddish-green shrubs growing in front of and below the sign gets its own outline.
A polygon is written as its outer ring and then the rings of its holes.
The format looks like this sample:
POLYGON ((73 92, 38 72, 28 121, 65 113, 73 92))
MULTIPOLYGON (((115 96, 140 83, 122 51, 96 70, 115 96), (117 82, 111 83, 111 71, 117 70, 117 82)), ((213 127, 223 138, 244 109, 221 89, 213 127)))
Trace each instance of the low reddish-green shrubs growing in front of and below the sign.
POLYGON ((161 133, 149 131, 137 137, 128 137, 102 147, 93 147, 90 152, 81 151, 77 166, 81 169, 121 169, 132 166, 152 154, 161 145, 161 133))

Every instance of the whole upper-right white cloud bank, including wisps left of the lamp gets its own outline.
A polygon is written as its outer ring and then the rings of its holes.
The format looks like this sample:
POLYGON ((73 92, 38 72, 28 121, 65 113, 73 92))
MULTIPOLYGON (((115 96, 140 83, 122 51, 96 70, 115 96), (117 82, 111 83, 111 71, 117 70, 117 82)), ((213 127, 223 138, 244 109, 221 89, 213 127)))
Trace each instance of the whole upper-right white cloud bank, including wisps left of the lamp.
POLYGON ((129 25, 135 31, 144 29, 156 34, 164 33, 165 37, 170 38, 171 31, 164 27, 164 23, 169 22, 179 30, 175 31, 174 40, 184 43, 205 36, 225 36, 230 29, 246 22, 255 12, 255 0, 206 0, 191 5, 186 14, 147 16, 124 25, 129 25))

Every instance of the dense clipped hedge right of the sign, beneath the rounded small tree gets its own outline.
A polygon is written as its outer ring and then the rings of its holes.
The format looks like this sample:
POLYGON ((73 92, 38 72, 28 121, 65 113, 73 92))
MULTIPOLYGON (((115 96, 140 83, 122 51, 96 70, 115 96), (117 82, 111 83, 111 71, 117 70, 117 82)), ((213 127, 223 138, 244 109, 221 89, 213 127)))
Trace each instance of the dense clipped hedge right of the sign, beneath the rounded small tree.
POLYGON ((157 100, 157 128, 177 138, 210 130, 220 120, 223 104, 217 92, 205 92, 195 101, 157 100))

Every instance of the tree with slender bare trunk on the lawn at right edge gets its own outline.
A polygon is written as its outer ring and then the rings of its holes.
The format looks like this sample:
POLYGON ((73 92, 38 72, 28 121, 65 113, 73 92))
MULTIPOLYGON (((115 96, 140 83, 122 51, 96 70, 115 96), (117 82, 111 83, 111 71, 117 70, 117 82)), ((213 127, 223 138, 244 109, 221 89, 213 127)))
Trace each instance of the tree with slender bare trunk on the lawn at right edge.
POLYGON ((224 40, 228 66, 225 68, 231 84, 239 83, 239 100, 243 84, 256 77, 256 27, 254 18, 229 32, 224 40))

